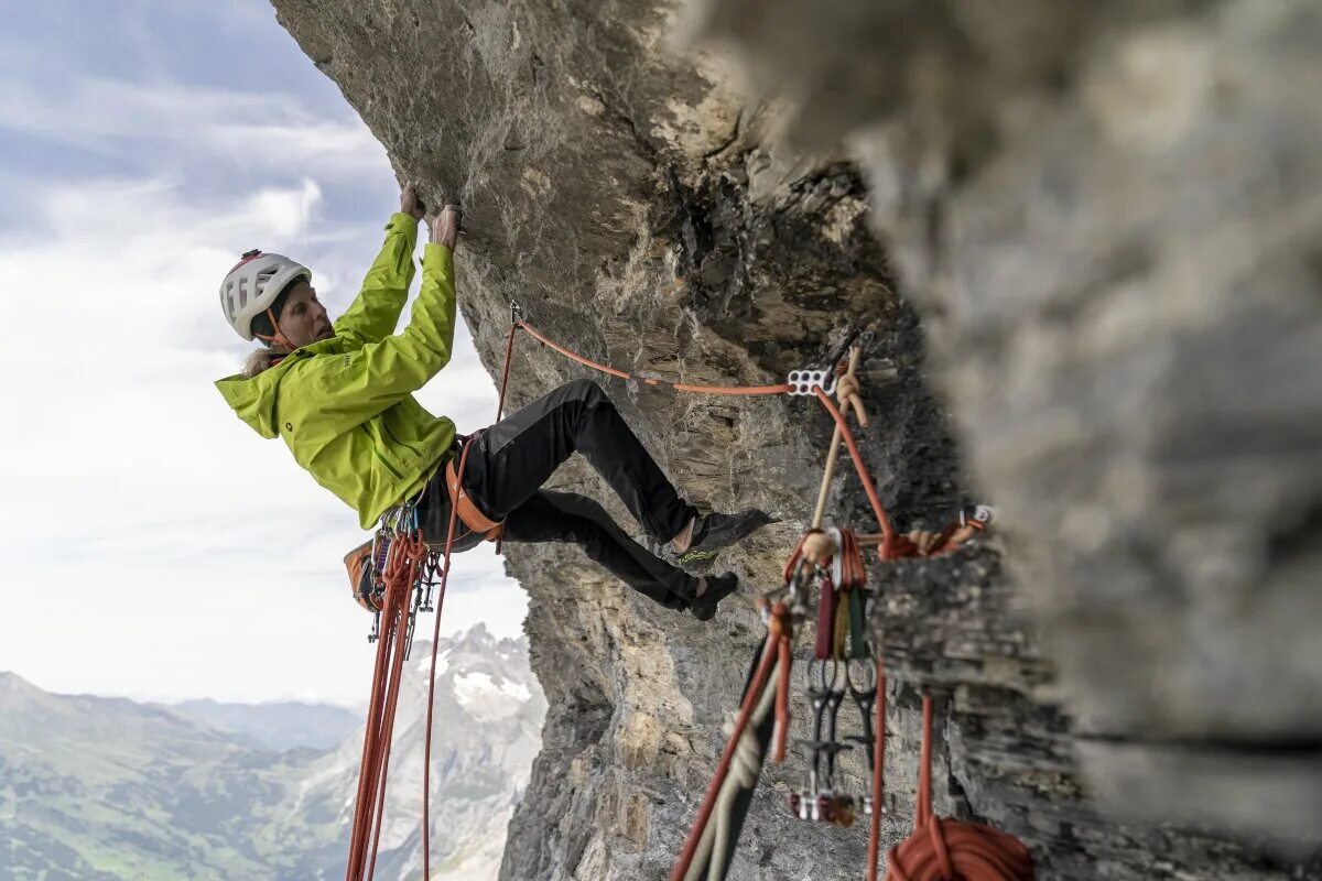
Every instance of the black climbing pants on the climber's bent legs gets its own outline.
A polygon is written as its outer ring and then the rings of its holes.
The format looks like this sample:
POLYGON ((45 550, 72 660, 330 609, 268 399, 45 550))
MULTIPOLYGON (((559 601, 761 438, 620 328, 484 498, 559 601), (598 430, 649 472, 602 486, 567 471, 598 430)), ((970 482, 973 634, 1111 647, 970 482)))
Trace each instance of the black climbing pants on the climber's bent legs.
MULTIPOLYGON (((572 542, 639 593, 670 609, 689 606, 697 579, 631 539, 594 499, 542 489, 579 452, 657 543, 669 542, 694 515, 596 383, 566 383, 467 442, 464 489, 484 514, 505 520, 505 542, 572 542)), ((444 472, 423 490, 418 512, 427 542, 444 544, 444 472)), ((463 522, 455 528, 456 551, 481 542, 463 522)))

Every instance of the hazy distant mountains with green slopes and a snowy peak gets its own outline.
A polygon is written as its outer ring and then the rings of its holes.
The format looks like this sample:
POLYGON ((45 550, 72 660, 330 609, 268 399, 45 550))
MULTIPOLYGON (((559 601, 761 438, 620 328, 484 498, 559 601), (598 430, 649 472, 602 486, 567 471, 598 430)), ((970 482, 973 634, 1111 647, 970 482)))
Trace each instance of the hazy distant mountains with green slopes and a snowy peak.
MULTIPOLYGON (((419 876, 430 654, 414 645, 402 683, 382 880, 419 876)), ((545 712, 524 641, 479 626, 440 642, 434 880, 496 878, 545 712)), ((192 713, 0 674, 0 881, 341 878, 361 750, 361 725, 330 750, 278 752, 192 713)))

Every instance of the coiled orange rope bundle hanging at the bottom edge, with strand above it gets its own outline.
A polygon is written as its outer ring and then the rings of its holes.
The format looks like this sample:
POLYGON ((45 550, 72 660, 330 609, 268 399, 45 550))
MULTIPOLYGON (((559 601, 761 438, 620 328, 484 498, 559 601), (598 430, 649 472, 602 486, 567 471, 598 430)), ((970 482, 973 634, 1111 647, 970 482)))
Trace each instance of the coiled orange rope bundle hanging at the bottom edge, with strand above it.
POLYGON ((1029 848, 982 823, 936 816, 932 810, 932 696, 923 696, 923 757, 914 833, 887 853, 887 881, 1032 881, 1029 848))

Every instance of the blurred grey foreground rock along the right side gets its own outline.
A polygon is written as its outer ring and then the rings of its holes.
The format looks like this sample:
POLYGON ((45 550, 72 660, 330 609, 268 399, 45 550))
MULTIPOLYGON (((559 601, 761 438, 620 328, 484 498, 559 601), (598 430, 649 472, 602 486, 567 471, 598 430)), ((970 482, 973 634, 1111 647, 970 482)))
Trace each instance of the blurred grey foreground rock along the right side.
POLYGON ((867 169, 1093 779, 1317 835, 1322 7, 752 5, 705 26, 867 169))

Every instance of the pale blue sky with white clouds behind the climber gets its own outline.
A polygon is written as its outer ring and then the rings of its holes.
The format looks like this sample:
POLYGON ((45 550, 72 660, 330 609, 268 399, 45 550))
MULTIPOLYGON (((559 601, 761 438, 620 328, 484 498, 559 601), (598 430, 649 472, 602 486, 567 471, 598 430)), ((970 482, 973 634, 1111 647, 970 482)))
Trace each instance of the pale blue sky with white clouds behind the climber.
MULTIPOLYGON (((334 316, 398 207, 385 151, 267 0, 7 7, 0 671, 137 700, 365 700, 371 618, 341 559, 366 534, 212 383, 253 349, 218 300, 241 252, 311 267, 334 316)), ((455 342, 418 399, 469 432, 496 390, 463 324, 455 342)), ((518 635, 526 608, 483 546, 455 559, 442 633, 518 635)))

